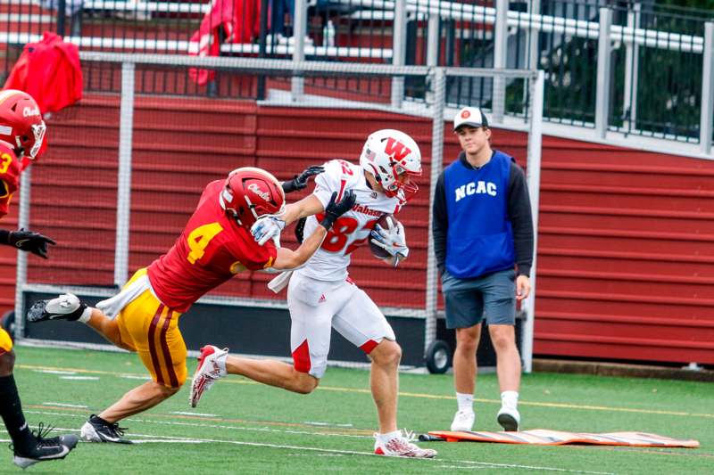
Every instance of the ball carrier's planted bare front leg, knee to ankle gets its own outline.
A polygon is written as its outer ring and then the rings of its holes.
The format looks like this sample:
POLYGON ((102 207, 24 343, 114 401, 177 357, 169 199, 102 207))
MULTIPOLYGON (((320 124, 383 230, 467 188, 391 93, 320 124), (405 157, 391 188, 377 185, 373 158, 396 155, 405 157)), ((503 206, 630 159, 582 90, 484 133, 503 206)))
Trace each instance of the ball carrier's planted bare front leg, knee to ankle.
POLYGON ((396 406, 399 395, 399 362, 402 360, 402 348, 392 340, 382 340, 369 357, 372 359, 369 373, 369 386, 372 389, 374 404, 377 405, 379 433, 386 434, 397 430, 396 406))

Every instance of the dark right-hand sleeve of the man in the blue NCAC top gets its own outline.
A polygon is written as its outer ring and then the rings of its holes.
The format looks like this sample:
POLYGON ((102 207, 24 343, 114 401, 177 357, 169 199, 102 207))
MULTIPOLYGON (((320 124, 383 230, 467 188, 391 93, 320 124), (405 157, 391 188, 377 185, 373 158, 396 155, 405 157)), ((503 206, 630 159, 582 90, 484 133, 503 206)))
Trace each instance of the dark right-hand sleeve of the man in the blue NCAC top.
POLYGON ((530 267, 533 266, 533 215, 526 174, 515 162, 511 162, 511 177, 508 184, 508 218, 513 226, 517 274, 529 276, 530 267))

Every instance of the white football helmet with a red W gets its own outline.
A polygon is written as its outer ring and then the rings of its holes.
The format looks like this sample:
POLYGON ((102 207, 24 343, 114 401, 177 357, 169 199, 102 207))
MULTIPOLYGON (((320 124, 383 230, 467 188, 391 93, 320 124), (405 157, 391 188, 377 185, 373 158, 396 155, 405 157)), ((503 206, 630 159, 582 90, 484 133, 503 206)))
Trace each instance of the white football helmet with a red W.
POLYGON ((362 148, 360 166, 374 175, 390 198, 401 189, 405 194, 413 194, 419 189, 416 183, 403 184, 397 179, 403 173, 421 175, 419 145, 399 130, 386 128, 369 135, 362 148))

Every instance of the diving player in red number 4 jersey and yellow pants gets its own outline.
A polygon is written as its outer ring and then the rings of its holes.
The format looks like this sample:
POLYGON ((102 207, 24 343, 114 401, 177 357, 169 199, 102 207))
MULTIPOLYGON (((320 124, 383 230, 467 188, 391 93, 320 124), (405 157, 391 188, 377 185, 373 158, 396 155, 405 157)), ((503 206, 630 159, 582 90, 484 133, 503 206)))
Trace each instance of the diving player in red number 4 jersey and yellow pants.
POLYGON ((82 438, 127 443, 119 421, 179 390, 187 377, 179 316, 204 293, 245 269, 292 269, 311 258, 335 220, 352 209, 353 194, 336 201, 334 193, 320 226, 297 250, 279 248, 274 242, 258 245, 250 228, 259 217, 279 216, 285 209, 285 191, 302 189, 307 178, 320 171, 308 168, 280 184, 260 168, 237 168, 205 187, 173 247, 139 269, 119 294, 95 308, 71 294, 40 300, 30 308, 30 322, 63 318, 87 323, 116 346, 137 352, 151 373, 152 381, 131 389, 101 414, 92 414, 82 426, 82 438))

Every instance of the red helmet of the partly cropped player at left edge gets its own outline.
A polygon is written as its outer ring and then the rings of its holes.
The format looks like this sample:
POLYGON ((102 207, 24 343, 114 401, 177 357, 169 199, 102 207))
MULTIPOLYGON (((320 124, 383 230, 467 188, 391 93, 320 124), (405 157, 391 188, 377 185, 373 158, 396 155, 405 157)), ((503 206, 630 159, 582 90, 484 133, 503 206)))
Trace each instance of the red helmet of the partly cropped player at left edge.
POLYGON ((18 159, 35 160, 45 140, 45 121, 31 95, 16 89, 0 91, 0 140, 18 159))

